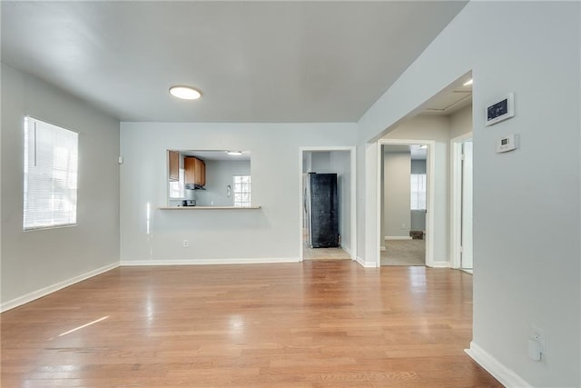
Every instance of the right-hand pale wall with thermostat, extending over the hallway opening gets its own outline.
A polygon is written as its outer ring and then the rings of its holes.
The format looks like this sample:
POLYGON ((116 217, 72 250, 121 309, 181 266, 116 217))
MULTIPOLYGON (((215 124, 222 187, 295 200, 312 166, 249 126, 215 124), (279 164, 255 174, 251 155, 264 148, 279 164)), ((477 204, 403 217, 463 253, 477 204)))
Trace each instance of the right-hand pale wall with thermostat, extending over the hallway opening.
MULTIPOLYGON (((367 163, 359 165, 358 194, 372 220, 373 142, 472 72, 471 354, 513 386, 581 385, 579 17, 578 2, 470 2, 359 121, 367 163), (486 127, 486 104, 507 92, 515 93, 516 116, 486 127), (496 154, 505 134, 520 134, 520 148, 496 154), (547 336, 540 363, 527 358, 533 324, 547 336)), ((374 227, 359 236, 366 263, 376 260, 368 251, 374 227)))

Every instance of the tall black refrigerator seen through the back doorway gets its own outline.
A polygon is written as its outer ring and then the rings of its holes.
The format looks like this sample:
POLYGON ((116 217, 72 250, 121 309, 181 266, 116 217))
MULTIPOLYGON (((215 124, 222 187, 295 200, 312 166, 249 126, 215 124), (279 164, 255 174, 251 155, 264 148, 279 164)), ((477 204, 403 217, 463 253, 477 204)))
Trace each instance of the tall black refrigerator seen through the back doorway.
POLYGON ((338 247, 337 174, 306 174, 304 201, 310 247, 338 247))

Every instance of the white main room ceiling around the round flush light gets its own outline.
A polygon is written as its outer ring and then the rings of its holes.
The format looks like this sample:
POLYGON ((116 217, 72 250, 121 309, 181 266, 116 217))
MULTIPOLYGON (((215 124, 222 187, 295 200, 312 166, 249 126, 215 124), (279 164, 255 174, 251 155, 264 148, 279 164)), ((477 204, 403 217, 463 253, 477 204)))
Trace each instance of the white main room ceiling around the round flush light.
POLYGON ((2 62, 122 121, 355 122, 466 3, 2 1, 2 62))

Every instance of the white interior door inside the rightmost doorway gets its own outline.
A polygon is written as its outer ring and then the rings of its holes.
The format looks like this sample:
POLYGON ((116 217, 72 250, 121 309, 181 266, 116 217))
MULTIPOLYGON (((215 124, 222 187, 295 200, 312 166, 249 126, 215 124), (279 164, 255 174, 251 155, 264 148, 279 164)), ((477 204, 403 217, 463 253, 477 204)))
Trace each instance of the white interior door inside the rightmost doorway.
POLYGON ((471 270, 472 259, 472 139, 462 144, 462 238, 461 268, 471 270))

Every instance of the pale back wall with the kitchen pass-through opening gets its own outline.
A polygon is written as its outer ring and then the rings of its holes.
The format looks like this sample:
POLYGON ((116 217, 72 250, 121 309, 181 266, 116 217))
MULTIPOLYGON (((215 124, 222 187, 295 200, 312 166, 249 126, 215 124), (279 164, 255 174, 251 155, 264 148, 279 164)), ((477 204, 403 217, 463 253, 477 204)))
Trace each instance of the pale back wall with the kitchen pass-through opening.
POLYGON ((300 147, 352 146, 356 137, 355 124, 122 123, 122 262, 299 260, 300 147), (261 209, 159 210, 167 149, 251 151, 252 204, 261 209))

